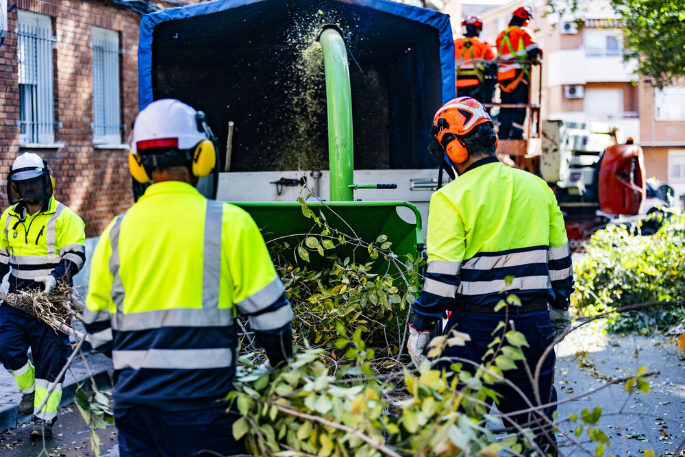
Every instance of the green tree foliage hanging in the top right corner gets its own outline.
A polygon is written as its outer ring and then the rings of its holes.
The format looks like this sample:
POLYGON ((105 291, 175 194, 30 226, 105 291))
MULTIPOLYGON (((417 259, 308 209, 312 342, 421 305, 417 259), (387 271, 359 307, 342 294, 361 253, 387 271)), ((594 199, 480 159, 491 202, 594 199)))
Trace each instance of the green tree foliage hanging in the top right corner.
MULTIPOLYGON (((547 0, 556 12, 588 8, 583 0, 547 0)), ((638 73, 662 88, 685 76, 685 2, 683 0, 608 0, 619 15, 624 47, 637 59, 638 73)))

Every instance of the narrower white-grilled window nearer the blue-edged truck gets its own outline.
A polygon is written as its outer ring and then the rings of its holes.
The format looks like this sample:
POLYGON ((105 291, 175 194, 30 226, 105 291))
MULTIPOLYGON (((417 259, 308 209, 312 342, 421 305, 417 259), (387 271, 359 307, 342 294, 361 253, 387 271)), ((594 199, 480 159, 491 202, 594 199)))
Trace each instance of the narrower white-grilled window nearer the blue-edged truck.
POLYGON ((92 28, 92 142, 121 143, 119 34, 92 28))

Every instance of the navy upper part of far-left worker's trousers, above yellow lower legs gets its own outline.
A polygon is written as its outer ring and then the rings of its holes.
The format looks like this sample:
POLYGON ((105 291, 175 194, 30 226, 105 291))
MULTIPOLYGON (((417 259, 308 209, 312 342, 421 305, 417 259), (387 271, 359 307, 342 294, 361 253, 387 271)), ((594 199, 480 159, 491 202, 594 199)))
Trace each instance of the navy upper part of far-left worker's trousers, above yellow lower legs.
POLYGON ((69 336, 10 305, 0 305, 0 360, 8 370, 18 370, 29 360, 36 379, 54 382, 69 355, 69 336))

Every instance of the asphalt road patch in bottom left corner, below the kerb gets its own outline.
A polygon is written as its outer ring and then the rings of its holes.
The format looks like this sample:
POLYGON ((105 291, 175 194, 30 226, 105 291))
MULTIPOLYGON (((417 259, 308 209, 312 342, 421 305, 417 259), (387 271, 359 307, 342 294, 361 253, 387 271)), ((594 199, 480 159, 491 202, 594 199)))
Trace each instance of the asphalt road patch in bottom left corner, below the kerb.
MULTIPOLYGON (((45 440, 32 439, 29 436, 31 424, 0 434, 0 456, 2 457, 83 457, 94 456, 90 443, 90 428, 86 425, 76 406, 61 408, 58 421, 53 427, 53 436, 45 440)), ((104 430, 97 430, 100 437, 100 456, 118 457, 116 445, 116 428, 108 425, 104 430)))

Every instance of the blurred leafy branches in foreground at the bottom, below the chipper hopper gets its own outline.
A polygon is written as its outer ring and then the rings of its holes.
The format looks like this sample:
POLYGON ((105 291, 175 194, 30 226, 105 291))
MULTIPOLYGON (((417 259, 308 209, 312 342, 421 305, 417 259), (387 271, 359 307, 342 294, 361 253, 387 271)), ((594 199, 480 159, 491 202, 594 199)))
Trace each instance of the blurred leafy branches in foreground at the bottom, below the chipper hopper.
MULTIPOLYGON (((503 328, 503 326, 502 326, 503 328)), ((475 373, 452 366, 453 376, 430 369, 423 362, 421 373, 404 368, 379 373, 375 355, 364 345, 358 329, 351 338, 339 329, 337 344, 351 344, 345 365, 332 369, 323 349, 305 349, 287 367, 267 371, 243 356, 237 390, 229 395, 242 416, 234 423, 236 438, 245 438, 250 454, 258 456, 544 456, 534 441, 551 423, 541 414, 543 406, 531 404, 534 421, 527 428, 493 429, 488 421, 490 402, 497 394, 493 385, 503 372, 523 361, 527 345, 519 332, 499 330, 492 354, 475 373), (503 454, 502 454, 503 453, 503 454)), ((432 354, 444 345, 463 345, 466 334, 453 332, 435 338, 432 354)), ((531 367, 534 371, 534 367, 531 367)), ((646 369, 625 382, 625 390, 649 391, 646 369)), ((596 391, 605 388, 601 386, 596 391)), ((573 401, 595 392, 584 392, 573 401)), ((595 426, 601 407, 584 409, 568 419, 555 421, 553 433, 562 425, 577 423, 566 439, 582 448, 593 445, 591 455, 602 456, 609 438, 595 426)), ((510 425, 507 417, 505 425, 510 425)))

